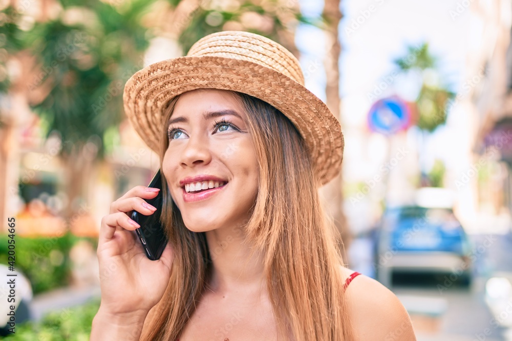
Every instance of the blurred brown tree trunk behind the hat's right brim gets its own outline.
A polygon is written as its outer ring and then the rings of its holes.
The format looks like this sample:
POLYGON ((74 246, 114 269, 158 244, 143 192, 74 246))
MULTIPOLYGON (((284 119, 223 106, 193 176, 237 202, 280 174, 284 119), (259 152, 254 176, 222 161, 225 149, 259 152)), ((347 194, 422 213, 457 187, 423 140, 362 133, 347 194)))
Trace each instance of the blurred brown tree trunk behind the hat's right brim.
MULTIPOLYGON (((326 96, 327 106, 333 115, 340 121, 339 108, 341 101, 339 99, 339 56, 341 53, 341 44, 338 37, 339 21, 342 19, 340 10, 340 0, 325 0, 324 17, 326 19, 326 58, 324 61, 327 84, 326 96)), ((343 127, 342 127, 343 129, 343 127)), ((321 188, 321 194, 326 200, 328 212, 334 219, 336 229, 341 236, 341 242, 344 248, 344 261, 348 263, 347 250, 351 241, 350 230, 347 226, 347 219, 343 212, 343 170, 327 185, 321 188)))

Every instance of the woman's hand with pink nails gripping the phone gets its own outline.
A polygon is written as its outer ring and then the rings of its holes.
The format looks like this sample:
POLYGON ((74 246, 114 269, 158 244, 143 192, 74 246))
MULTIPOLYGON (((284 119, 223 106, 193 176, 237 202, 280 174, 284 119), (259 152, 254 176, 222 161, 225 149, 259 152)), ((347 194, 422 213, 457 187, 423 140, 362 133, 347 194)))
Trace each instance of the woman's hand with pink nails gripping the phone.
POLYGON ((153 214, 144 199, 157 194, 157 189, 137 186, 114 201, 101 220, 97 255, 103 314, 145 316, 163 296, 174 260, 170 243, 159 260, 148 259, 133 232, 139 225, 127 215, 132 210, 153 214))

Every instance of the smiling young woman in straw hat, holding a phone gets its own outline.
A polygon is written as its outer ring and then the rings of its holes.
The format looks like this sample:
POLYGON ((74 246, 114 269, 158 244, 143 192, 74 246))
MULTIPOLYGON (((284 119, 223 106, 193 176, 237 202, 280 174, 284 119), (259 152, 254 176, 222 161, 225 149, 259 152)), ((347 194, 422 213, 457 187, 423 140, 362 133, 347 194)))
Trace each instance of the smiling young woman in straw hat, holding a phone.
POLYGON ((91 340, 415 340, 396 296, 339 256, 317 190, 343 134, 303 84, 282 46, 234 31, 127 82, 126 114, 161 156, 169 242, 147 259, 127 216, 152 214, 158 190, 112 203, 91 340))

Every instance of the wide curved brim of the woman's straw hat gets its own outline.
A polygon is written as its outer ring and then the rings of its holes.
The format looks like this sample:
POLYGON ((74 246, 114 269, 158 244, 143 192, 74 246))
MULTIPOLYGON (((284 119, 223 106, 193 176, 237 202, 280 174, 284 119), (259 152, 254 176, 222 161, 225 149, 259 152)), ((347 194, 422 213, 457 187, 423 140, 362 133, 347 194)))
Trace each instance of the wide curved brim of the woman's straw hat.
POLYGON ((258 63, 191 56, 151 64, 126 82, 126 116, 147 146, 158 152, 166 104, 175 96, 199 88, 231 90, 271 104, 302 134, 319 183, 323 185, 338 174, 344 149, 338 120, 302 84, 258 63))

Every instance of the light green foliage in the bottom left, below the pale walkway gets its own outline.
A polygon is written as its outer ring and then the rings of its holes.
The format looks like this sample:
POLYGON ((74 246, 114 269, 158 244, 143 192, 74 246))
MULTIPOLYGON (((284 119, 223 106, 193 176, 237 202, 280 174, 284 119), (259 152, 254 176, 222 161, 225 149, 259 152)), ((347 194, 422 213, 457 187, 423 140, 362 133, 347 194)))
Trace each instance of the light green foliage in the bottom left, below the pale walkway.
POLYGON ((25 322, 16 325, 12 341, 89 341, 94 315, 98 312, 100 300, 45 315, 39 323, 25 322))

